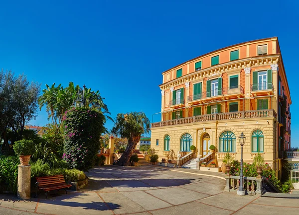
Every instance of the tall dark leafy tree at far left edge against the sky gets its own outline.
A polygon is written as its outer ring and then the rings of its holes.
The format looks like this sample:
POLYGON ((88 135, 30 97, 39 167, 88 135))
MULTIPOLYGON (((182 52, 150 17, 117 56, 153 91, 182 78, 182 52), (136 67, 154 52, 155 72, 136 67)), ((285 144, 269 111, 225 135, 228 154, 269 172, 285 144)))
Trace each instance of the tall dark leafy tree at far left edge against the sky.
POLYGON ((22 138, 26 122, 35 119, 39 90, 40 85, 28 81, 24 74, 0 71, 0 137, 6 150, 11 150, 8 133, 13 134, 13 144, 22 138))

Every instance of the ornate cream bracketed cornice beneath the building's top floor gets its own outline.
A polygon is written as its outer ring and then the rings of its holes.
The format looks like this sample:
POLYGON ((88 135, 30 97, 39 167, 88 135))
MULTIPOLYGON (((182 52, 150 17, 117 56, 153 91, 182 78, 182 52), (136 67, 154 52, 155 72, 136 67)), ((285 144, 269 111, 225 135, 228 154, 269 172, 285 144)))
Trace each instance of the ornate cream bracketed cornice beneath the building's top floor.
POLYGON ((272 64, 277 64, 279 62, 280 58, 281 58, 280 54, 243 58, 240 60, 227 62, 224 64, 209 67, 204 70, 186 74, 186 75, 176 78, 174 80, 163 83, 163 84, 159 85, 159 87, 161 90, 166 90, 166 89, 181 85, 186 82, 203 79, 205 77, 213 77, 215 75, 218 75, 218 74, 221 74, 224 72, 242 70, 242 69, 245 69, 246 67, 254 68, 254 67, 258 67, 258 66, 266 66, 266 65, 268 66, 268 65, 272 65, 272 64))

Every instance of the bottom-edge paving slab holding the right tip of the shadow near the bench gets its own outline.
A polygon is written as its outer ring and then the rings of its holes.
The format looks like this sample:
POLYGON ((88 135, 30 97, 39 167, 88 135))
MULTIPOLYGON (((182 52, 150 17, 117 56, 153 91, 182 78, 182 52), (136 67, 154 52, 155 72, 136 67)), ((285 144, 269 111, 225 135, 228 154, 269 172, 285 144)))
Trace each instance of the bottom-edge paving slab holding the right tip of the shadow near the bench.
POLYGON ((115 214, 131 214, 146 211, 142 206, 123 195, 123 193, 100 193, 99 195, 115 214), (116 208, 113 204, 119 205, 119 207, 116 208))

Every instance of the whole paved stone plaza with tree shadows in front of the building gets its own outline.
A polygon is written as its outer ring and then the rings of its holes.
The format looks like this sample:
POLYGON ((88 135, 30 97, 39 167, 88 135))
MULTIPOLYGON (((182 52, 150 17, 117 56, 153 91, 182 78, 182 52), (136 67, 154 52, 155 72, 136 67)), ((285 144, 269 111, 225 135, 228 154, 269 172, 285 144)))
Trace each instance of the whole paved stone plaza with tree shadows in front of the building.
MULTIPOLYGON (((223 192, 222 173, 154 166, 105 166, 87 173, 80 192, 51 192, 48 199, 0 195, 0 215, 298 215, 298 199, 223 192)), ((32 195, 33 196, 33 195, 32 195)))

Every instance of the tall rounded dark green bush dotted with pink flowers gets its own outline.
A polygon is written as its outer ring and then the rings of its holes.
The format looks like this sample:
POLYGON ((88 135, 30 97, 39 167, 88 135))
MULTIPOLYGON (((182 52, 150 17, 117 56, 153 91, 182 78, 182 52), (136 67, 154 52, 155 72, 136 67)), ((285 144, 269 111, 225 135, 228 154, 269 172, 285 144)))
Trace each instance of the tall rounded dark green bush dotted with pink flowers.
POLYGON ((63 116, 64 153, 62 158, 72 168, 87 171, 94 166, 105 132, 105 116, 89 108, 72 108, 63 116))

